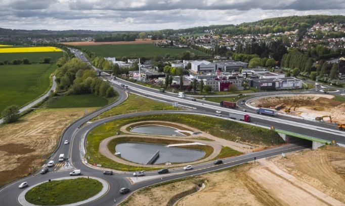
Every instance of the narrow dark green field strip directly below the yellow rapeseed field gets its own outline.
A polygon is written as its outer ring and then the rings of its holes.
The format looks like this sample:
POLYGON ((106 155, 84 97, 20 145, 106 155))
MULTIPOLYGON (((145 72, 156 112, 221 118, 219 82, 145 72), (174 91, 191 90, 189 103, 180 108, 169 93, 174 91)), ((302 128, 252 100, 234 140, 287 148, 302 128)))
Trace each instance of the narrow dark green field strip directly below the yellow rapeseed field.
POLYGON ((51 62, 57 62, 62 56, 62 52, 27 52, 27 53, 0 53, 0 62, 4 60, 12 61, 13 59, 27 58, 31 63, 39 62, 40 58, 51 57, 51 62))

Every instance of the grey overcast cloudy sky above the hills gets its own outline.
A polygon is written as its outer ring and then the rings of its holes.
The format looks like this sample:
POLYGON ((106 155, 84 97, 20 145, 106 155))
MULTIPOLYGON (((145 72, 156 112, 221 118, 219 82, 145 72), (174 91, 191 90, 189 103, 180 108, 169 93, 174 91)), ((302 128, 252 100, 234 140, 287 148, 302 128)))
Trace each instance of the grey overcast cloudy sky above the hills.
POLYGON ((344 0, 0 0, 0 28, 144 31, 345 15, 344 0))

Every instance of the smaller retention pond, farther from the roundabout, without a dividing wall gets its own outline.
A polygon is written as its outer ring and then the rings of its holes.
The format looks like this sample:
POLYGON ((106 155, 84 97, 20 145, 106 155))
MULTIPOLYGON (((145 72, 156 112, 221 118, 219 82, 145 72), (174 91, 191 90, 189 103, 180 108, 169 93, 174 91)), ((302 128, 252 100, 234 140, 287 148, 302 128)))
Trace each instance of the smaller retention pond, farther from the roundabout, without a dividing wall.
POLYGON ((171 135, 171 136, 186 136, 177 131, 177 128, 160 125, 143 125, 137 126, 131 129, 131 132, 142 134, 159 134, 159 135, 171 135))

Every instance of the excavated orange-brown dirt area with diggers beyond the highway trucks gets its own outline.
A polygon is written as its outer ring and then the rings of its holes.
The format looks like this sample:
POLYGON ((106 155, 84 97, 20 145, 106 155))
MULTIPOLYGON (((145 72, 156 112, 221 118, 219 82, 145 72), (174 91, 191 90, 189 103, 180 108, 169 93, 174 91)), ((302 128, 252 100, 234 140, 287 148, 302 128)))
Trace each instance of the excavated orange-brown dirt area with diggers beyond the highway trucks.
MULTIPOLYGON (((301 118, 315 120, 316 117, 331 116, 332 122, 345 122, 345 103, 332 100, 332 95, 285 95, 268 98, 260 98, 249 101, 248 104, 254 107, 265 107, 274 109, 277 105, 285 104, 279 113, 301 118), (285 109, 290 108, 289 111, 285 109)), ((330 122, 329 117, 324 117, 323 121, 330 122)))

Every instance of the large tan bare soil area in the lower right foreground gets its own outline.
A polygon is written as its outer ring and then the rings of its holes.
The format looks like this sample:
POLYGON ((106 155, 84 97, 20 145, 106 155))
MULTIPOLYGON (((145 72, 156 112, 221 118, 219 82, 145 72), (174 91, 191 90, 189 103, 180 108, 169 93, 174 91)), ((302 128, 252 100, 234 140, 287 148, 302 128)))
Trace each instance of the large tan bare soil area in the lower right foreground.
POLYGON ((345 149, 325 146, 146 188, 121 205, 345 205, 345 149))

